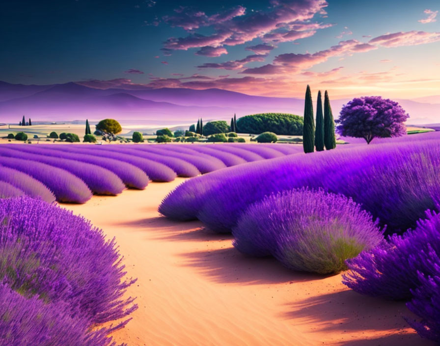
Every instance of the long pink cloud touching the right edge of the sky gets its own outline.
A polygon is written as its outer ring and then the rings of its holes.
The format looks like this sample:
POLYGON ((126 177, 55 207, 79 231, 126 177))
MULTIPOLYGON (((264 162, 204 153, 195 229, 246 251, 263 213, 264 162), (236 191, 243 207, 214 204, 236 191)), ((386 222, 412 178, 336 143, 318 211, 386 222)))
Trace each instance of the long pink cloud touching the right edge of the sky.
POLYGON ((372 38, 369 43, 384 47, 416 46, 440 41, 440 32, 407 31, 387 33, 372 38))

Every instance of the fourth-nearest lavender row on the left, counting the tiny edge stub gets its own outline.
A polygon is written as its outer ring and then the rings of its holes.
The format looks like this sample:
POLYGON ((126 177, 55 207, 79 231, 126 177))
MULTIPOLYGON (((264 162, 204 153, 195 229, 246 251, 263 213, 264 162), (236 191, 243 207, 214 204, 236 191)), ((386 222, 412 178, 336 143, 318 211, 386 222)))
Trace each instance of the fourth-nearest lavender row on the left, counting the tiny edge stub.
MULTIPOLYGON (((44 149, 40 152, 44 152, 44 149)), ((0 146, 0 155, 37 161, 66 170, 81 178, 90 190, 98 195, 118 195, 125 189, 124 183, 116 174, 86 162, 60 160, 57 157, 24 152, 18 145, 0 146)))

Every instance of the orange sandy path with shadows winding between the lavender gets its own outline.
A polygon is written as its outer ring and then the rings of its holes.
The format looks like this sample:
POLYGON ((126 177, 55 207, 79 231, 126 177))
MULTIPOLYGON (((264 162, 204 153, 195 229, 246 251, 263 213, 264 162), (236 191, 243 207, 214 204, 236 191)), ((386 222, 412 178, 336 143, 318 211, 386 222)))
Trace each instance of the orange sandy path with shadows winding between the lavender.
POLYGON ((117 197, 64 204, 115 236, 139 309, 114 333, 140 345, 432 345, 408 328, 403 303, 368 298, 340 275, 289 271, 275 259, 249 259, 231 236, 198 221, 166 220, 157 206, 182 182, 151 183, 117 197))

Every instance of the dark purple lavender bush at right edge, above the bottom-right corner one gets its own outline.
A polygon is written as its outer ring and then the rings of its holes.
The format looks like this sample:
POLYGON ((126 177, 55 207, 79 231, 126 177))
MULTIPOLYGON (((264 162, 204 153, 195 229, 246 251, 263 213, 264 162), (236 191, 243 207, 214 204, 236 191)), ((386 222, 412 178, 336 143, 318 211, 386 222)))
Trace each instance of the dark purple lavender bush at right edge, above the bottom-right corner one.
POLYGON ((438 274, 439 256, 440 214, 427 211, 415 230, 348 260, 342 282, 361 294, 408 300, 422 276, 438 274))

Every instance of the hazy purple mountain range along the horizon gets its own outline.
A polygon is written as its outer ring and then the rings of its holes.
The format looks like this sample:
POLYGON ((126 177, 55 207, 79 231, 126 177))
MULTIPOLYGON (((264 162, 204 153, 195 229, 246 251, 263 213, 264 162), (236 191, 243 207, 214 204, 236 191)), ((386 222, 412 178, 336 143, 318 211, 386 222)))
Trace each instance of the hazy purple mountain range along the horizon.
MULTIPOLYGON (((331 100, 337 117, 350 99, 331 100)), ((409 123, 440 121, 440 96, 415 100, 396 100, 411 115, 409 123), (431 101, 431 102, 430 102, 431 101)), ((255 113, 293 113, 302 115, 303 99, 251 96, 222 89, 98 89, 79 83, 55 85, 22 85, 0 82, 0 121, 18 122, 23 115, 32 120, 66 121, 118 120, 193 122, 228 120, 234 113, 243 116, 255 113)))

